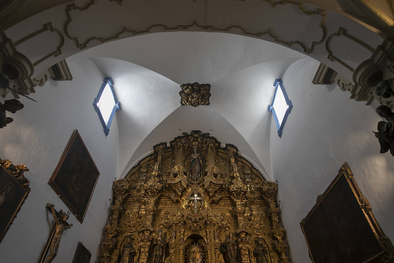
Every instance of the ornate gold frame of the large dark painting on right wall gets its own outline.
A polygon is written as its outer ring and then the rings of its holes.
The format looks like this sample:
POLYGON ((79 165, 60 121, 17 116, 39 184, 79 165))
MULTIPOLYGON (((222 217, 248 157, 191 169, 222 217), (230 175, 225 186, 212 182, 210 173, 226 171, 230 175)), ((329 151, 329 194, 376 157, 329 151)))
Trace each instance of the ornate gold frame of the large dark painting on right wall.
POLYGON ((361 194, 361 191, 359 187, 357 186, 355 180, 353 179, 353 173, 351 172, 349 165, 347 162, 345 162, 342 167, 339 169, 338 175, 336 175, 335 179, 331 182, 329 187, 324 191, 323 194, 318 195, 318 198, 316 200, 316 204, 312 209, 309 211, 308 215, 303 218, 300 222, 300 226, 302 229, 302 232, 305 237, 305 241, 307 242, 308 246, 308 252, 309 252, 309 257, 313 263, 319 263, 315 262, 312 253, 310 250, 309 242, 307 235, 305 234, 305 229, 304 226, 309 220, 309 218, 312 216, 312 214, 318 209, 320 204, 323 202, 323 200, 327 197, 329 192, 335 187, 336 183, 341 179, 342 177, 346 178, 347 183, 349 184, 349 187, 354 194, 359 207, 366 217, 368 224, 370 225, 370 228, 372 232, 374 233, 377 242, 379 243, 380 247, 382 248, 382 251, 375 254, 373 257, 370 257, 369 259, 366 259, 362 263, 372 263, 372 262, 392 262, 394 260, 394 249, 392 247, 392 244, 390 240, 383 235, 383 231, 379 227, 379 224, 377 223, 375 216, 372 214, 370 204, 368 203, 368 200, 361 194))

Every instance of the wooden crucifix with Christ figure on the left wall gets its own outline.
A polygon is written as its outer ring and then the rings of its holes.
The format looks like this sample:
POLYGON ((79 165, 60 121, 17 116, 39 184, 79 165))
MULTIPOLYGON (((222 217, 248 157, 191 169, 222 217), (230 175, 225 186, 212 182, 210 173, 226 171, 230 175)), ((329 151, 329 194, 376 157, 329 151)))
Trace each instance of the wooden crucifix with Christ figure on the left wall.
POLYGON ((64 213, 63 209, 60 209, 59 212, 56 211, 54 209, 53 203, 47 203, 46 209, 48 209, 52 213, 52 216, 55 219, 55 225, 52 228, 50 236, 48 237, 48 241, 46 241, 44 251, 41 254, 41 257, 38 261, 39 263, 52 262, 52 260, 58 254, 60 238, 61 238, 61 235, 63 234, 63 231, 71 228, 71 226, 72 226, 72 224, 67 223, 66 220, 69 218, 69 214, 64 213), (48 254, 48 251, 49 251, 49 256, 45 260, 45 257, 46 257, 46 254, 48 254))

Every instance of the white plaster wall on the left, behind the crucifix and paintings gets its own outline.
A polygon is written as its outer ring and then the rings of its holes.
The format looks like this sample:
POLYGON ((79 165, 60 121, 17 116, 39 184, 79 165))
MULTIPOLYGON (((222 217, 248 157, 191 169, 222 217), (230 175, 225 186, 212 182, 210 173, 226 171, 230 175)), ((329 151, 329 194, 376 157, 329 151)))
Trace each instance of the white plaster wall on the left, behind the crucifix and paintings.
POLYGON ((20 99, 24 108, 9 114, 14 122, 0 130, 0 158, 10 159, 13 164, 26 164, 30 171, 25 175, 32 189, 0 244, 1 262, 37 262, 54 224, 46 203, 54 203, 57 210, 67 211, 48 180, 74 129, 78 129, 100 176, 83 224, 74 216, 69 218, 73 226, 63 233, 53 262, 71 262, 78 241, 90 250, 91 262, 97 261, 119 161, 117 118, 115 114, 106 137, 92 105, 104 76, 89 59, 80 59, 78 64, 68 62, 68 65, 72 81, 49 80, 45 86, 37 87, 37 93, 31 97, 38 103, 20 99))

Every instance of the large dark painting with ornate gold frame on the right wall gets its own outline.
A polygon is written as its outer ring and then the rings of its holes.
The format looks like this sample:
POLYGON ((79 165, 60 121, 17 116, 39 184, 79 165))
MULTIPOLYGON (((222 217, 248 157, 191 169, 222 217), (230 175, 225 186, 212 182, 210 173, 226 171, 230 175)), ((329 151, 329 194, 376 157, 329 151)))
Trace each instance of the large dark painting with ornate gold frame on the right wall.
POLYGON ((300 223, 313 263, 392 262, 394 250, 348 163, 300 223))

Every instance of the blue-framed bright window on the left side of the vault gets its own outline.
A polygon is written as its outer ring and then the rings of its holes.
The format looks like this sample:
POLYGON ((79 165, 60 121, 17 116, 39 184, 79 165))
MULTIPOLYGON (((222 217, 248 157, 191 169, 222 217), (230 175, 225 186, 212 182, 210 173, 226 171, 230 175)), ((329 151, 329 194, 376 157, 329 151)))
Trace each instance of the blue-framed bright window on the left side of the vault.
POLYGON ((121 109, 121 104, 116 99, 115 91, 113 90, 112 78, 104 78, 99 93, 93 101, 93 107, 97 115, 99 115, 105 136, 108 136, 113 115, 117 110, 121 109))

